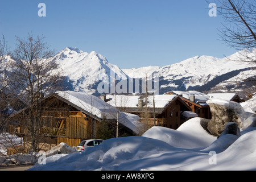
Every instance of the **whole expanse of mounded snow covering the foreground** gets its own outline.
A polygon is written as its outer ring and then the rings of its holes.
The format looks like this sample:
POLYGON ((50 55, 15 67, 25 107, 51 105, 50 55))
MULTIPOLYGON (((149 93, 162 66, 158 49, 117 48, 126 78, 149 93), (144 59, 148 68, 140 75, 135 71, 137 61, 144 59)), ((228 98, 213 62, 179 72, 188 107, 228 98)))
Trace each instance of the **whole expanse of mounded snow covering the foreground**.
POLYGON ((177 130, 152 127, 142 137, 108 139, 81 153, 53 155, 30 170, 256 169, 256 127, 247 127, 240 137, 226 134, 217 139, 200 121, 190 119, 177 130))

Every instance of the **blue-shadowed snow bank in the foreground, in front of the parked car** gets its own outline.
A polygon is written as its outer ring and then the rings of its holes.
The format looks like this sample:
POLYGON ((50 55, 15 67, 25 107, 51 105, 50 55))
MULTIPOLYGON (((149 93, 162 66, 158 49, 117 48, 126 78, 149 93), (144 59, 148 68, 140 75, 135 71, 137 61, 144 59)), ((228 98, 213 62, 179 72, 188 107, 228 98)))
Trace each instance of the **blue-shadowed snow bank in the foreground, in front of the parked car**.
POLYGON ((30 170, 139 170, 147 159, 174 150, 166 142, 146 137, 124 137, 104 140, 84 152, 63 156, 30 170))

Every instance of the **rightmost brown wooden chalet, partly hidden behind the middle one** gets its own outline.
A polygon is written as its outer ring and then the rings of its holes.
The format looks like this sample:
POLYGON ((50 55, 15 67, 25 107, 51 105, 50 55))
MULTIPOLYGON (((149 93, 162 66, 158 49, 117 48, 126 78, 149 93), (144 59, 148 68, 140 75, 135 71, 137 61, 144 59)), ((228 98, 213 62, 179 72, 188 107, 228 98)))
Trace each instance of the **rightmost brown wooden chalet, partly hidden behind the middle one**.
POLYGON ((200 118, 210 119, 212 115, 210 114, 210 107, 206 103, 209 96, 206 94, 196 92, 196 91, 171 91, 165 94, 176 95, 181 98, 187 105, 192 109, 193 113, 196 113, 200 118))

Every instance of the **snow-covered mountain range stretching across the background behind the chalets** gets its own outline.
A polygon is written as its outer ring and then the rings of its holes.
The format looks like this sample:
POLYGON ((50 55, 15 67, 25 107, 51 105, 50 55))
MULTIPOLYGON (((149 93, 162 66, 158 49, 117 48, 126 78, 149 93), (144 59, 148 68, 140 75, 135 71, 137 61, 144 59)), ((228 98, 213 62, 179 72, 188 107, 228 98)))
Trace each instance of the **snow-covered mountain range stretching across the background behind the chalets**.
POLYGON ((114 77, 122 81, 157 75, 159 94, 163 94, 171 90, 210 92, 214 88, 215 92, 241 92, 245 86, 241 85, 245 84, 243 80, 255 77, 256 74, 251 65, 232 61, 237 60, 240 55, 241 52, 224 58, 195 56, 165 67, 150 66, 138 69, 120 69, 118 65, 109 63, 100 53, 88 53, 72 47, 58 52, 53 59, 63 69, 63 76, 66 78, 65 89, 68 90, 97 95, 100 94, 97 92, 97 86, 102 81, 110 83, 114 77), (241 77, 243 80, 238 79, 241 77))

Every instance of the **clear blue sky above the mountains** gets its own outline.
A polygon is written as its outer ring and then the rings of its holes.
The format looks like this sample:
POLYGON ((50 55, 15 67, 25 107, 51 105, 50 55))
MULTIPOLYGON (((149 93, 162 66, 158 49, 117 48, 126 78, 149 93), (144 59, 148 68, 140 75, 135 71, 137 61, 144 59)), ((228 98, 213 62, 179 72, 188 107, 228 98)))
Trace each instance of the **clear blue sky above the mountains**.
MULTIPOLYGON (((214 0, 213 0, 214 2, 214 0)), ((56 52, 96 51, 120 68, 163 67, 196 55, 232 55, 220 40, 222 17, 205 0, 23 0, 0 2, 0 34, 13 49, 16 36, 44 35, 56 52), (39 17, 39 3, 46 17, 39 17)))

